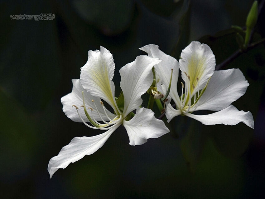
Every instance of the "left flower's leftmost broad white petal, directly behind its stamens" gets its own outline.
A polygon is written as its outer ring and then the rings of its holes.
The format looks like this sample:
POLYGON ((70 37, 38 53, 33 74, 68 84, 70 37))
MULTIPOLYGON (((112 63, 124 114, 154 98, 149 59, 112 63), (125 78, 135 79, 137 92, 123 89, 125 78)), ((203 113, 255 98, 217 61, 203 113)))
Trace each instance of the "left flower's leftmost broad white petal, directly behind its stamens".
MULTIPOLYGON (((79 79, 72 79, 73 89, 72 92, 65 95, 61 98, 61 103, 63 104, 63 112, 67 117, 69 117, 74 122, 82 122, 80 117, 77 114, 76 108, 73 105, 79 107, 79 114, 85 122, 89 122, 87 119, 84 109, 80 108, 83 105, 82 91, 84 92, 84 101, 86 107, 91 107, 95 110, 95 105, 99 110, 99 114, 104 120, 108 120, 105 116, 102 105, 100 104, 100 99, 90 95, 84 88, 81 86, 79 79), (92 103, 91 100, 94 99, 95 103, 92 103)), ((108 117, 114 118, 116 115, 106 110, 108 117)), ((90 114, 90 112, 89 112, 90 114)), ((100 117, 97 112, 93 112, 93 116, 97 121, 100 121, 100 117)))

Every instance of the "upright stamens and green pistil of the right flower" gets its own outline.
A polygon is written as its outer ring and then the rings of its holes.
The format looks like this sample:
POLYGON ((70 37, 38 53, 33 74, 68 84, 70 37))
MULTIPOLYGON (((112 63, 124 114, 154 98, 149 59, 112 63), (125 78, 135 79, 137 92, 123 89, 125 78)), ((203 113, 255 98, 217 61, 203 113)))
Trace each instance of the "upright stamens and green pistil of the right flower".
POLYGON ((181 99, 180 99, 181 104, 178 108, 181 110, 182 113, 194 112, 198 107, 199 99, 202 96, 202 94, 205 92, 211 77, 209 77, 205 87, 200 90, 199 77, 196 78, 197 87, 195 87, 194 84, 192 84, 191 86, 190 82, 195 82, 195 81, 190 81, 190 76, 186 72, 184 73, 186 75, 186 81, 185 81, 185 86, 181 82, 182 85, 181 99))

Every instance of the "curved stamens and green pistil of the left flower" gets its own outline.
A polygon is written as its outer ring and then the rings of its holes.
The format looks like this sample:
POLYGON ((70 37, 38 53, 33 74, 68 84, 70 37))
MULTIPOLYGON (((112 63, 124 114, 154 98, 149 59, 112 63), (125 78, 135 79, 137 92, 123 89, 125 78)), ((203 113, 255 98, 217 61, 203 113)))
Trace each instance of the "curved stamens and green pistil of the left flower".
POLYGON ((101 122, 103 122, 103 123, 98 122, 98 121, 94 118, 94 114, 93 114, 94 109, 93 109, 93 108, 91 108, 91 107, 88 108, 88 109, 91 110, 91 116, 92 116, 92 118, 90 117, 89 113, 87 112, 87 109, 86 109, 86 106, 85 106, 85 102, 84 102, 84 92, 83 92, 83 91, 82 91, 82 97, 83 97, 83 105, 82 105, 81 107, 84 108, 85 115, 86 115, 86 117, 88 118, 89 122, 90 122, 93 126, 88 125, 88 124, 83 120, 83 118, 82 118, 82 117, 80 116, 80 114, 79 114, 79 111, 78 111, 79 108, 78 108, 77 106, 73 105, 73 107, 76 108, 76 111, 77 111, 78 116, 80 117, 81 121, 82 121, 86 126, 88 126, 88 127, 90 127, 90 128, 93 128, 93 129, 108 130, 108 129, 113 128, 114 126, 119 125, 119 123, 121 122, 121 120, 123 120, 123 117, 122 117, 121 114, 118 114, 118 115, 116 115, 116 117, 114 117, 113 119, 110 119, 110 118, 108 117, 107 112, 106 112, 106 107, 104 106, 103 102, 100 101, 100 104, 102 105, 102 108, 103 108, 103 110, 104 110, 104 117, 107 117, 107 119, 108 119, 108 121, 109 121, 109 122, 106 122, 106 121, 102 118, 102 115, 100 114, 100 112, 99 112, 99 110, 98 110, 98 108, 97 108, 97 106, 96 106, 94 100, 92 100, 92 102, 94 103, 95 110, 96 110, 96 112, 97 112, 97 114, 98 114, 98 116, 99 116, 99 118, 100 118, 99 121, 101 121, 101 122))

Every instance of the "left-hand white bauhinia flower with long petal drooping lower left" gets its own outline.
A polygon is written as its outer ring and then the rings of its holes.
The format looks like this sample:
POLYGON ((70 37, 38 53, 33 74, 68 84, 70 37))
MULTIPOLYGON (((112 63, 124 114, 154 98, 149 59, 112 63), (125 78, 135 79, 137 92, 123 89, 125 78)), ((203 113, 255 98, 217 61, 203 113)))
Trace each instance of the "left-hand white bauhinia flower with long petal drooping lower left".
POLYGON ((127 130, 130 145, 141 145, 148 138, 157 138, 169 132, 164 122, 156 119, 150 109, 139 108, 141 95, 153 82, 152 67, 159 62, 161 60, 157 58, 141 55, 120 69, 123 97, 118 98, 119 104, 122 104, 118 106, 112 82, 115 68, 112 54, 104 47, 100 47, 100 51, 88 52, 88 61, 81 68, 80 80, 73 79, 72 92, 61 98, 63 111, 75 122, 107 131, 93 137, 73 138, 57 156, 51 158, 48 165, 50 178, 59 168, 96 152, 122 124, 127 130), (106 109, 101 99, 112 107, 114 113, 106 109), (132 111, 135 109, 134 115, 132 111))

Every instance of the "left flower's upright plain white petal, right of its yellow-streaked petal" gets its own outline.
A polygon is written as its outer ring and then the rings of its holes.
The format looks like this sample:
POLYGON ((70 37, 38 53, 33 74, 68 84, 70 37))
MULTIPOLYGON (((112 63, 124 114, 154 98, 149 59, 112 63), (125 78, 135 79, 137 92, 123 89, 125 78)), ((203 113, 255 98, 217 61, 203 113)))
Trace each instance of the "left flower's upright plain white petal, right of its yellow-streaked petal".
POLYGON ((159 62, 161 60, 157 58, 140 55, 120 69, 124 117, 142 104, 141 95, 148 90, 153 82, 152 67, 159 62))

